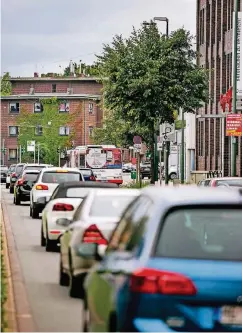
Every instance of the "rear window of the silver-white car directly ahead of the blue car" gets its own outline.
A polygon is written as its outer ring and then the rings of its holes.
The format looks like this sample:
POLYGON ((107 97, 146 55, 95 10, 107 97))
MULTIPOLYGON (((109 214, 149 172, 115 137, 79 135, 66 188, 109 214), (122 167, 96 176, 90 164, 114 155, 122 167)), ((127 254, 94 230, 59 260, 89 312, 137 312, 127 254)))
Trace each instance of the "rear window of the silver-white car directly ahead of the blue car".
POLYGON ((134 197, 131 195, 96 195, 90 216, 119 217, 133 199, 134 197))

